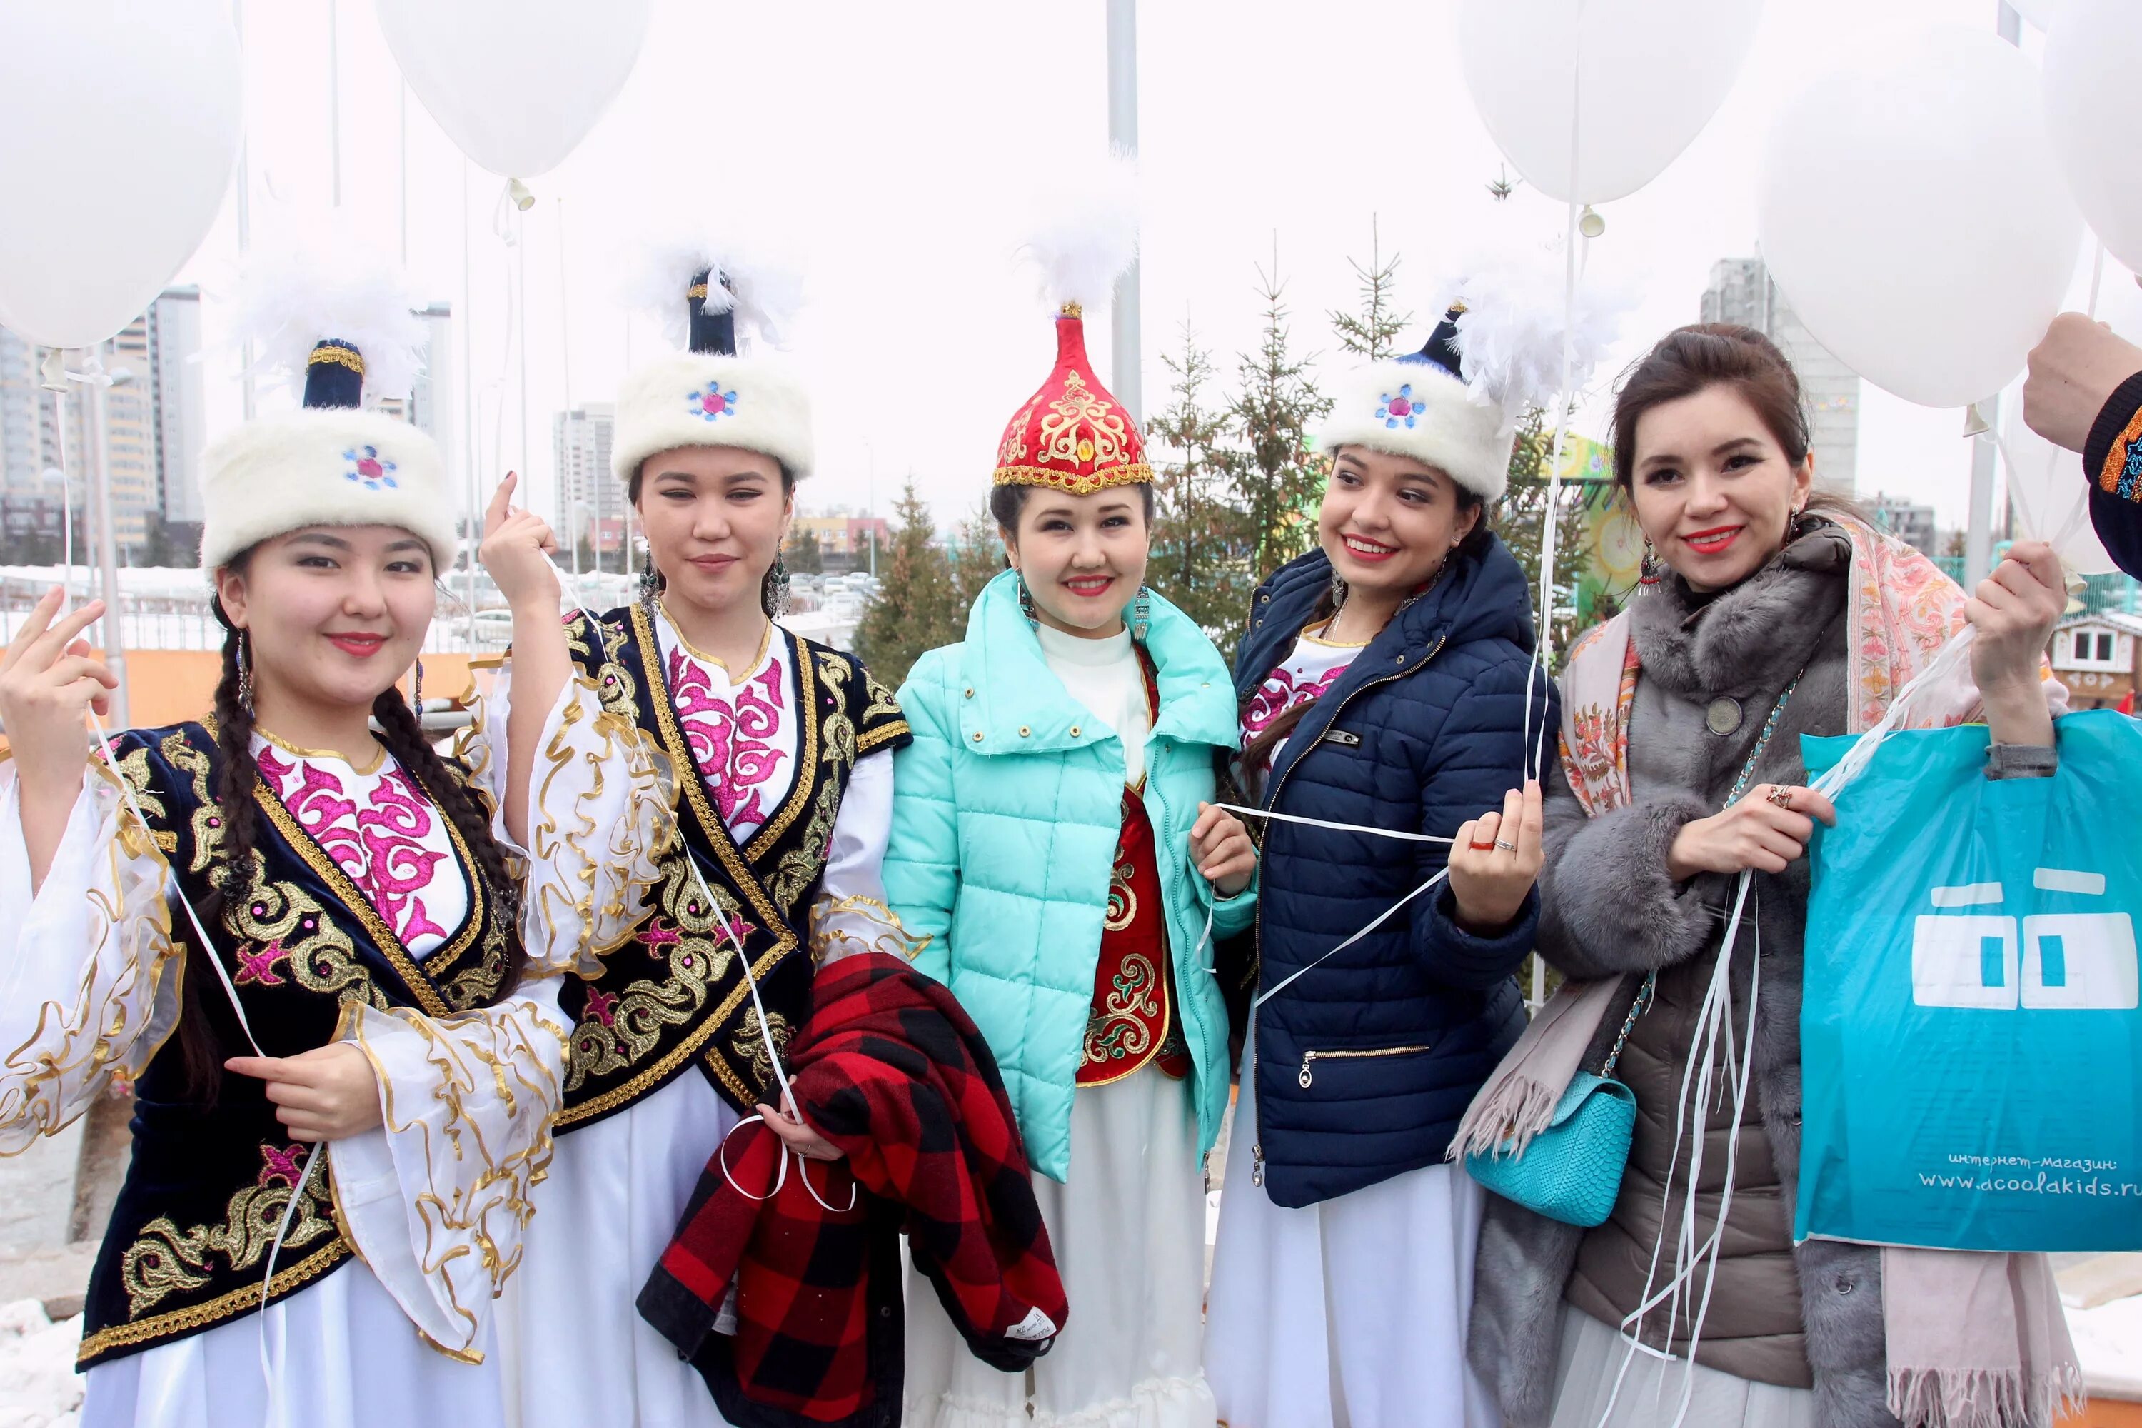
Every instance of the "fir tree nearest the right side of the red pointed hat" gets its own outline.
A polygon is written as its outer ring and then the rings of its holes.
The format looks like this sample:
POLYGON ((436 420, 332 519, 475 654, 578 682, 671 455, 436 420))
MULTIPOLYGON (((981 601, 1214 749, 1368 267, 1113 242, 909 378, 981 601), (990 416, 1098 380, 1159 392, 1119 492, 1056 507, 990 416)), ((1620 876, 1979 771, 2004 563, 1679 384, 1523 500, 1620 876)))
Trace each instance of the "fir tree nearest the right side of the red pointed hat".
POLYGON ((1187 321, 1182 353, 1161 362, 1174 383, 1170 405, 1146 422, 1146 437, 1155 452, 1174 452, 1174 460, 1157 460, 1152 469, 1146 584, 1197 621, 1232 659, 1257 580, 1249 518, 1227 499, 1227 413, 1206 405, 1212 358, 1187 321))

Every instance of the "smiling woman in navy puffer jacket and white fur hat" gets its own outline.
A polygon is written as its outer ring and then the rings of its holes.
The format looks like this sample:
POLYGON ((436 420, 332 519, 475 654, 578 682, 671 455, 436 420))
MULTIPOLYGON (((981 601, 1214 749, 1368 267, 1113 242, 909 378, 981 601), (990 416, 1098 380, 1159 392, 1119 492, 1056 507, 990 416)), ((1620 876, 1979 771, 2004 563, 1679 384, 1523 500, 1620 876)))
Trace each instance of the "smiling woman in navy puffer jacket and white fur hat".
POLYGON ((1544 674, 1527 694, 1529 591, 1484 520, 1510 435, 1467 398, 1457 317, 1345 381, 1319 550, 1257 591, 1236 659, 1242 784, 1272 816, 1206 1319, 1234 1428, 1495 1424, 1465 1366, 1482 1190, 1444 1152, 1525 1026, 1525 745, 1557 715, 1544 674), (1397 906, 1446 852, 1448 882, 1397 906))

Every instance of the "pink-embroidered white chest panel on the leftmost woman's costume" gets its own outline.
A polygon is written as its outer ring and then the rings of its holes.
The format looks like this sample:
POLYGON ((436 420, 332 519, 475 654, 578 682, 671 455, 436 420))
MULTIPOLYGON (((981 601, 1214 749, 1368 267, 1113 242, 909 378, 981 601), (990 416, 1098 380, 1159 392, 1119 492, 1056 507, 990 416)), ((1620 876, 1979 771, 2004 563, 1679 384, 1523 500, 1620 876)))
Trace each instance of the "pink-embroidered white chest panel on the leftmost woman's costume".
POLYGON ((420 893, 448 854, 424 846, 435 829, 431 801, 401 764, 381 773, 364 805, 332 769, 313 760, 285 760, 270 747, 259 751, 259 766, 298 826, 358 884, 396 938, 405 944, 446 938, 420 893))

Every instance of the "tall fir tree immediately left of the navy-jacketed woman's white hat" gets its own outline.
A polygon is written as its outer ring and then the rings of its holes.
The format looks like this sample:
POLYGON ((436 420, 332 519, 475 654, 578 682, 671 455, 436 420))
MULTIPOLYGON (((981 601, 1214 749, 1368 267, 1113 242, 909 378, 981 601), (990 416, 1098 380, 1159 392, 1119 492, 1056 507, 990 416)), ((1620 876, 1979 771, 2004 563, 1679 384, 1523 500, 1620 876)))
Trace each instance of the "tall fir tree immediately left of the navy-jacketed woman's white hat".
POLYGON ((1264 336, 1255 353, 1238 358, 1242 388, 1227 407, 1232 441, 1215 454, 1249 518, 1251 576, 1259 582, 1315 544, 1330 465, 1309 450, 1309 428, 1332 405, 1317 392, 1309 358, 1294 353, 1283 293, 1274 242, 1270 272, 1257 270, 1264 336))

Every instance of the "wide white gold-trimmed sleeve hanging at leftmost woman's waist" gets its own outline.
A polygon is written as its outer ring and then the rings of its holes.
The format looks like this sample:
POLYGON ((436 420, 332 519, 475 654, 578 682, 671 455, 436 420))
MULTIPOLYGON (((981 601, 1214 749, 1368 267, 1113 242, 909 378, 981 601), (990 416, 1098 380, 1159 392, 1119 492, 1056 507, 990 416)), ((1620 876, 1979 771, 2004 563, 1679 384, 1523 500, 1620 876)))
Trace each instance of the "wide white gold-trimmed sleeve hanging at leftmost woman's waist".
MULTIPOLYGON (((533 972, 533 968, 531 968, 533 972)), ((418 1332, 476 1362, 484 1315, 521 1263, 550 1165, 565 1023, 557 976, 433 1019, 349 1004, 341 1040, 379 1077, 383 1124, 328 1143, 336 1214, 418 1332)))

